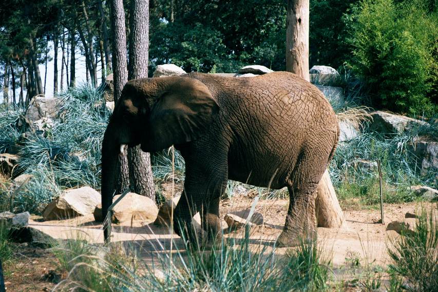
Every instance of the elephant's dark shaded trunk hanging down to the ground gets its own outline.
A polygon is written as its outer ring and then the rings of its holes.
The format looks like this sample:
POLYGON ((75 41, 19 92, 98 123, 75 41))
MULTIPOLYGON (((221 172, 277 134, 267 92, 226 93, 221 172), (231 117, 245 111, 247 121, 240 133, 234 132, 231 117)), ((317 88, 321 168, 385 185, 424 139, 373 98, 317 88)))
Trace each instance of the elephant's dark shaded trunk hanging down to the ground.
POLYGON ((116 191, 116 173, 117 160, 120 153, 120 145, 128 143, 126 130, 120 129, 109 123, 102 142, 102 180, 101 180, 101 196, 102 196, 102 217, 104 219, 104 239, 109 242, 108 238, 108 223, 105 223, 105 217, 109 206, 112 204, 112 197, 116 191))

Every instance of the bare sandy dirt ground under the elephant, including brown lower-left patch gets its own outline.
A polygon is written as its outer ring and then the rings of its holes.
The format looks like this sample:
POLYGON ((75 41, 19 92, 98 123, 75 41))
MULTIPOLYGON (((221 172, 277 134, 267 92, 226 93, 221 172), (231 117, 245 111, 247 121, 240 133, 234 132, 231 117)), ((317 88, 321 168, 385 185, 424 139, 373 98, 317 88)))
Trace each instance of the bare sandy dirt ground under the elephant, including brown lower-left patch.
MULTIPOLYGON (((221 218, 225 213, 251 208, 253 199, 247 197, 233 198, 232 201, 221 202, 221 218)), ((288 200, 259 200, 256 211, 263 215, 263 225, 252 228, 251 240, 255 247, 260 243, 272 244, 280 234, 284 225, 288 200)), ((436 204, 423 203, 428 208, 436 204)), ((420 203, 385 204, 384 222, 379 223, 379 209, 358 209, 352 204, 344 208, 345 223, 336 229, 318 227, 317 236, 323 254, 331 257, 331 268, 336 279, 350 280, 354 275, 348 275, 349 265, 358 260, 361 265, 373 263, 386 269, 390 260, 387 255, 389 239, 396 238, 395 231, 386 231, 386 225, 395 220, 403 220, 407 212, 415 212, 420 203)), ((225 221, 223 226, 227 226, 225 221)), ((39 229, 55 239, 87 239, 91 243, 102 243, 103 232, 101 223, 94 221, 93 216, 78 217, 61 221, 42 221, 33 218, 29 226, 39 229)), ((239 232, 239 231, 235 231, 239 232)), ((170 249, 170 238, 178 236, 169 234, 167 227, 157 226, 151 222, 132 221, 120 225, 113 225, 112 241, 142 246, 142 255, 146 262, 151 260, 157 250, 170 249)), ((226 236, 233 236, 234 232, 224 231, 226 236)), ((176 240, 173 249, 183 248, 182 242, 176 240)), ((280 254, 287 248, 278 248, 280 254)), ((4 263, 5 284, 7 291, 49 291, 54 283, 65 277, 57 269, 57 259, 51 252, 40 247, 28 244, 15 246, 15 256, 18 258, 13 264, 4 263)))

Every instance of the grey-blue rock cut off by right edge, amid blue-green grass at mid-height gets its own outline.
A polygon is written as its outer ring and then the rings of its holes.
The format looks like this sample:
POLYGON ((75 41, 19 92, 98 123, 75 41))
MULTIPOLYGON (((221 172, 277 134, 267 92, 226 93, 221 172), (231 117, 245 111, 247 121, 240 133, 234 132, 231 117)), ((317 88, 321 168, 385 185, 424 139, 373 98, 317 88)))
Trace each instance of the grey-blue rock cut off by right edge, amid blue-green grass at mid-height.
POLYGON ((422 173, 431 167, 438 169, 438 142, 415 141, 406 148, 417 158, 416 166, 422 173))

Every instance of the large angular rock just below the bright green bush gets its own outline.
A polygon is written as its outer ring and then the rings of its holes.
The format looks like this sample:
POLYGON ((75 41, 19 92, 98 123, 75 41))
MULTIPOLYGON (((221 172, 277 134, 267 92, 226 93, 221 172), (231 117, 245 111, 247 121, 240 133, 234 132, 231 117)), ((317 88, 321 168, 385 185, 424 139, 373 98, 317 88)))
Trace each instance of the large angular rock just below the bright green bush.
POLYGON ((371 112, 372 122, 370 130, 380 133, 398 133, 410 131, 414 127, 428 126, 429 124, 420 120, 408 118, 407 116, 392 114, 383 111, 371 112))

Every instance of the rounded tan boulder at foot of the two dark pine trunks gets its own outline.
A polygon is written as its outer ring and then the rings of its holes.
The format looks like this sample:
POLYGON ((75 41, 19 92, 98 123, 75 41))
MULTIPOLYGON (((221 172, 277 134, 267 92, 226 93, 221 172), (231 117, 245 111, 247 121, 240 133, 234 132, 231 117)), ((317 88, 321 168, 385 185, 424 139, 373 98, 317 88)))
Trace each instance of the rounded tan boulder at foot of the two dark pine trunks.
MULTIPOLYGON (((116 201, 120 196, 120 194, 114 196, 113 201, 116 201)), ((153 200, 134 192, 128 192, 113 210, 114 213, 111 217, 113 223, 125 222, 132 218, 151 221, 155 220, 158 215, 158 208, 153 200)))

